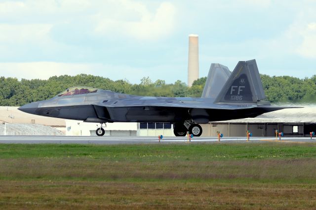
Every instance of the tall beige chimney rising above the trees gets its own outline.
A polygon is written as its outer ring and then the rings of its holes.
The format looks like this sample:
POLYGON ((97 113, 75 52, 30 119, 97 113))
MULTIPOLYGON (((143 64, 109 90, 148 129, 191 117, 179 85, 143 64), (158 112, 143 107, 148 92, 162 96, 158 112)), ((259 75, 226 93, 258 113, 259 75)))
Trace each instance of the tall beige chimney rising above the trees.
POLYGON ((198 79, 198 35, 189 35, 188 86, 198 79))

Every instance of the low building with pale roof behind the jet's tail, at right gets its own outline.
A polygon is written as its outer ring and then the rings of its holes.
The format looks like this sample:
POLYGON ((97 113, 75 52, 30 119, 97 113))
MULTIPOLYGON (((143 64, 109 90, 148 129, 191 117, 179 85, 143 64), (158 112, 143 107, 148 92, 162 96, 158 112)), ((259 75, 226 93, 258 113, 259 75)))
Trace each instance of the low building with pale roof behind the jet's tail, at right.
POLYGON ((215 121, 203 126, 203 135, 216 136, 217 131, 224 137, 246 136, 249 130, 255 137, 275 136, 276 130, 284 136, 308 137, 316 132, 316 107, 283 109, 265 113, 256 118, 215 121))

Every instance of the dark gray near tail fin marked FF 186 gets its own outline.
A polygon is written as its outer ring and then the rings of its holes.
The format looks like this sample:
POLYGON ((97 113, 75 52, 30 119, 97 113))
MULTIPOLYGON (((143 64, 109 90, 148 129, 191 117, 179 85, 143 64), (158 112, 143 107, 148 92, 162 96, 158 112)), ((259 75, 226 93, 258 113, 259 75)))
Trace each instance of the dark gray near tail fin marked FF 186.
POLYGON ((215 103, 257 103, 265 99, 256 60, 239 61, 215 103))

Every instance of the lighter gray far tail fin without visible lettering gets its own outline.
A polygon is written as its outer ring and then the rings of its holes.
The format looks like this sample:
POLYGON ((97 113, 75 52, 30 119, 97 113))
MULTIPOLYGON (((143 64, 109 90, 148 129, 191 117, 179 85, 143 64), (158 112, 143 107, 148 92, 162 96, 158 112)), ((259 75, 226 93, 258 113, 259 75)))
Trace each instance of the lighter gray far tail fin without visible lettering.
POLYGON ((227 66, 212 63, 202 92, 202 98, 216 98, 231 75, 227 66))

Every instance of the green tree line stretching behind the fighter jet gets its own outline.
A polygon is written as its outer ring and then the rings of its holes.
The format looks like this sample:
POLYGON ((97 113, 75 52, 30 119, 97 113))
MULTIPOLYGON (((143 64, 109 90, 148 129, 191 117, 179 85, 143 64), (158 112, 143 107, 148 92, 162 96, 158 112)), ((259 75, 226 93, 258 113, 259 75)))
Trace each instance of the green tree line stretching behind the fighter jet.
MULTIPOLYGON (((267 99, 271 102, 316 102, 316 75, 299 79, 290 76, 261 75, 267 99)), ((206 77, 194 81, 192 87, 178 80, 166 84, 164 80, 153 82, 149 77, 139 84, 127 80, 79 74, 77 76, 53 76, 48 80, 0 77, 0 106, 22 106, 34 101, 46 100, 74 86, 86 86, 115 92, 168 97, 200 97, 206 77)))

